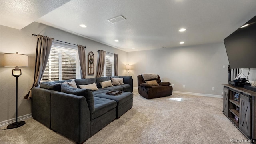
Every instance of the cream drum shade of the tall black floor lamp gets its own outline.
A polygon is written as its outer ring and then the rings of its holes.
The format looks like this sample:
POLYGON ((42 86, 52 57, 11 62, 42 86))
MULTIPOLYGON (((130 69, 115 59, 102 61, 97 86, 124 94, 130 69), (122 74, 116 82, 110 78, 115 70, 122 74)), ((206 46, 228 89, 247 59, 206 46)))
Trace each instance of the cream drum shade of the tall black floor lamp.
POLYGON ((4 54, 4 66, 28 67, 28 56, 24 54, 4 54))

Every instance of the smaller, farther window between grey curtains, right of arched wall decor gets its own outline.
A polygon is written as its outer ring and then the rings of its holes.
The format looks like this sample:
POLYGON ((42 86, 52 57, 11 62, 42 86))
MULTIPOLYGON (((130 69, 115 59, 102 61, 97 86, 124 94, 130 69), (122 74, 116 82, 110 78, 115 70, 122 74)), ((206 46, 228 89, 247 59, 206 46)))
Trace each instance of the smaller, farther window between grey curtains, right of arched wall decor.
POLYGON ((105 66, 102 76, 114 76, 114 54, 106 54, 105 56, 105 66))

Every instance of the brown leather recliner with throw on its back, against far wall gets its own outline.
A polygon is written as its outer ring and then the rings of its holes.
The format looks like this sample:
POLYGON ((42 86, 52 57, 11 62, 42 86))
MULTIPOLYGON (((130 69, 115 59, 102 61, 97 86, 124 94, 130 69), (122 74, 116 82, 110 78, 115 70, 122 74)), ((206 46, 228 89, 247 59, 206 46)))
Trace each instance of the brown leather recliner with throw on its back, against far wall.
MULTIPOLYGON (((138 75, 138 88, 139 88, 139 94, 143 96, 144 98, 151 99, 151 98, 160 98, 164 96, 170 96, 172 95, 172 86, 170 82, 161 82, 161 79, 159 75, 157 75, 157 79, 151 79, 147 81, 156 80, 158 85, 151 86, 150 84, 147 84, 142 75, 138 75)), ((149 83, 149 82, 148 82, 149 83)))

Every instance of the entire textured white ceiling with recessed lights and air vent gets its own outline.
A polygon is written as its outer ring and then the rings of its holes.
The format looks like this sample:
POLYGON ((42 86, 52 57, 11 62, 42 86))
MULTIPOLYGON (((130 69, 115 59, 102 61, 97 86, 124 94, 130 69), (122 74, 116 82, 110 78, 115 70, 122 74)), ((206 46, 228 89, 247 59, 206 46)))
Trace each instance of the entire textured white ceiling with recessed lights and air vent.
POLYGON ((40 7, 39 0, 30 0, 25 14, 17 14, 12 10, 20 1, 6 8, 0 0, 0 24, 20 29, 36 21, 128 52, 223 42, 256 15, 256 0, 45 1, 50 4, 40 7), (121 15, 126 20, 108 21, 121 15), (15 24, 16 17, 22 18, 21 24, 15 24))

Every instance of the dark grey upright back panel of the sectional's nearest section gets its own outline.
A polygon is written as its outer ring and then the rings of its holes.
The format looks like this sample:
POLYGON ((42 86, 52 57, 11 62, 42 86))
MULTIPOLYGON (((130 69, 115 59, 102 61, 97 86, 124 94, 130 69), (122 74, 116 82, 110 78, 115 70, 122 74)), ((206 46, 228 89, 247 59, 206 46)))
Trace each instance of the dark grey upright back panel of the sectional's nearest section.
POLYGON ((51 128, 77 143, 87 140, 90 137, 90 111, 86 98, 52 92, 51 128))

